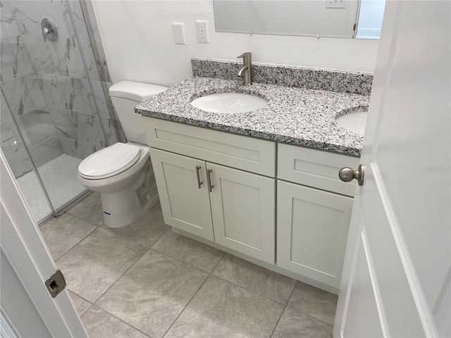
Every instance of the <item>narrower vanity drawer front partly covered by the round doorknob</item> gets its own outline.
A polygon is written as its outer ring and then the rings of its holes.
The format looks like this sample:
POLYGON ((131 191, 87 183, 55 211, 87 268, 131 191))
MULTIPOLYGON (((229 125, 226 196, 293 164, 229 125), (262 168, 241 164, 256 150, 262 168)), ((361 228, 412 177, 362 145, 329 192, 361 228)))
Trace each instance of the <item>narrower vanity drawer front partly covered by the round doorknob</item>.
POLYGON ((342 167, 357 170, 360 158, 330 151, 278 144, 278 178, 330 192, 354 196, 356 181, 342 182, 342 167))

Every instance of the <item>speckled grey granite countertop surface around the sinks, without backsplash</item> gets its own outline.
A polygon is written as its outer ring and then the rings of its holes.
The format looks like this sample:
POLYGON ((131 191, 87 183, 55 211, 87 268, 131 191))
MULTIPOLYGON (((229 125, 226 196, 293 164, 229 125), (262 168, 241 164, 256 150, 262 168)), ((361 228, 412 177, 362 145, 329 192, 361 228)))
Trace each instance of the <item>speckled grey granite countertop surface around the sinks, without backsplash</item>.
POLYGON ((255 82, 245 86, 241 79, 190 77, 138 104, 135 111, 153 118, 360 156, 364 138, 339 127, 335 117, 368 104, 369 96, 360 94, 255 82), (266 99, 268 105, 235 114, 209 113, 190 105, 199 96, 221 92, 254 94, 266 99))

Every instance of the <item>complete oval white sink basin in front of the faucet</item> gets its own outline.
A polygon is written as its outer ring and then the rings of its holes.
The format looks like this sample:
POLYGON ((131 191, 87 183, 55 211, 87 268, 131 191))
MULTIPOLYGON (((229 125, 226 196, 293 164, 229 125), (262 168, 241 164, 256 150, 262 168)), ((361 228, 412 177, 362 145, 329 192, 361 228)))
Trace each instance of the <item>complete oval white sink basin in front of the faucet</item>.
POLYGON ((243 93, 219 93, 200 96, 191 106, 202 111, 220 114, 246 113, 263 108, 268 101, 260 96, 243 93))

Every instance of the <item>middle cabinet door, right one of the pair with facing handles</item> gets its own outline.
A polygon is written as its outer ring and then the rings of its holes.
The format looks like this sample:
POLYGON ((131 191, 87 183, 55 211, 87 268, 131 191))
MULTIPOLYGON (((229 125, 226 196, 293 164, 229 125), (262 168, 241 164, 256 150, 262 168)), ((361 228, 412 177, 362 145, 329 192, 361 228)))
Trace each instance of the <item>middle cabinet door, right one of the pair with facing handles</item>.
POLYGON ((216 243, 273 264, 275 180, 206 163, 216 243))

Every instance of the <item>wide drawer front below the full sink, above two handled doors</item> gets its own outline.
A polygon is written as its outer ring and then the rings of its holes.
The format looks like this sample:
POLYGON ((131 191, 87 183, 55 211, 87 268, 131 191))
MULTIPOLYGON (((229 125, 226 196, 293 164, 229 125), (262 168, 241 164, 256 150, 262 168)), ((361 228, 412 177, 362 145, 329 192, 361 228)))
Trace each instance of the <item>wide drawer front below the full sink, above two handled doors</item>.
POLYGON ((276 175, 276 142, 144 117, 147 143, 206 161, 270 177, 276 175))

